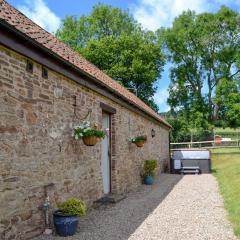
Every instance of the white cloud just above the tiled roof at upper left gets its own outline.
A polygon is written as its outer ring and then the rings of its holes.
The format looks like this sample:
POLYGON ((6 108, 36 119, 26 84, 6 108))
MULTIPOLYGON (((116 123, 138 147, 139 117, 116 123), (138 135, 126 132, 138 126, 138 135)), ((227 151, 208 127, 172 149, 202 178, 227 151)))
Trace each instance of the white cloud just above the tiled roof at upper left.
POLYGON ((44 0, 25 0, 18 9, 50 33, 56 32, 60 27, 60 18, 48 8, 44 0))

